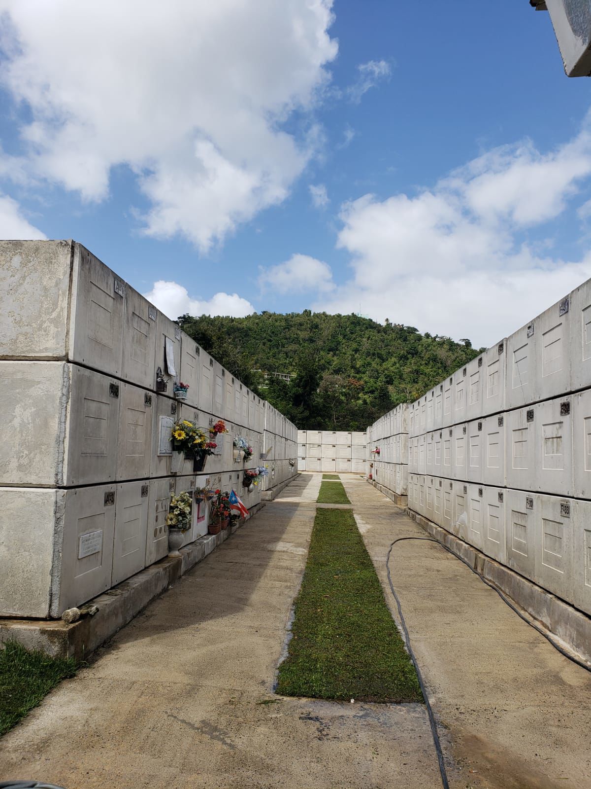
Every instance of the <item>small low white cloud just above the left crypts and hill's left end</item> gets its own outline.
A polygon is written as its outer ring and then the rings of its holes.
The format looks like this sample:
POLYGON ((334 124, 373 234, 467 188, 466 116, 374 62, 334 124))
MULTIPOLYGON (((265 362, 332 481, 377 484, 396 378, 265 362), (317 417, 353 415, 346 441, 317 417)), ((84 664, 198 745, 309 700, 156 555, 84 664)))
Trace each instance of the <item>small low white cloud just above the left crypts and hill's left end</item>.
POLYGON ((229 315, 243 318, 256 312, 251 302, 238 294, 217 293, 209 301, 202 301, 191 298, 188 290, 178 282, 166 282, 164 279, 154 282, 150 293, 143 295, 171 320, 177 320, 185 313, 193 316, 229 315))

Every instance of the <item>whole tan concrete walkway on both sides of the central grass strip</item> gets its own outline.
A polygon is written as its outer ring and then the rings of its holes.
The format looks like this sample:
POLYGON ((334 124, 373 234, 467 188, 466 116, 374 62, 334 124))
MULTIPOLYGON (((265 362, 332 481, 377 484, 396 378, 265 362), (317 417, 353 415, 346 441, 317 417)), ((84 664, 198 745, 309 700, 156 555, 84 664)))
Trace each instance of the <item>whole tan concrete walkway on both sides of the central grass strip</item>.
MULTIPOLYGON (((321 478, 301 474, 0 739, 0 780, 438 789, 422 705, 273 696, 321 478)), ((427 535, 359 477, 342 481, 394 611, 388 546, 427 535)), ((438 544, 397 544, 391 570, 452 789, 591 789, 591 675, 438 544)))

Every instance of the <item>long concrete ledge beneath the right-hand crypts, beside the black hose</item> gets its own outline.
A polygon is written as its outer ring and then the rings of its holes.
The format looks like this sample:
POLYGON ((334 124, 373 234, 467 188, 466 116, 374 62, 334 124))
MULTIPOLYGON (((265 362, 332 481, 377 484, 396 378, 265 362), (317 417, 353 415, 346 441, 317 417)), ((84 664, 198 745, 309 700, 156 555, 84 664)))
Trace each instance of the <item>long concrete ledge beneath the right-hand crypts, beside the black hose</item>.
POLYGON ((564 600, 542 589, 503 564, 490 559, 477 548, 472 548, 422 515, 407 510, 407 514, 444 544, 455 555, 464 559, 478 575, 500 589, 511 601, 548 631, 548 637, 579 660, 591 666, 591 618, 564 600))

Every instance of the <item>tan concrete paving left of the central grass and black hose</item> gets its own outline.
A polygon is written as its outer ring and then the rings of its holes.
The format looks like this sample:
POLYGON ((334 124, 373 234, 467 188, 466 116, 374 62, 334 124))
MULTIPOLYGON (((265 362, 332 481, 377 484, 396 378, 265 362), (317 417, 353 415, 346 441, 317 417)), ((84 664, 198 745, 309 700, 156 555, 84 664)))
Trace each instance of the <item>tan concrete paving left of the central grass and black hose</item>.
POLYGON ((0 740, 2 779, 67 789, 438 787, 422 705, 273 695, 320 481, 298 477, 0 740))

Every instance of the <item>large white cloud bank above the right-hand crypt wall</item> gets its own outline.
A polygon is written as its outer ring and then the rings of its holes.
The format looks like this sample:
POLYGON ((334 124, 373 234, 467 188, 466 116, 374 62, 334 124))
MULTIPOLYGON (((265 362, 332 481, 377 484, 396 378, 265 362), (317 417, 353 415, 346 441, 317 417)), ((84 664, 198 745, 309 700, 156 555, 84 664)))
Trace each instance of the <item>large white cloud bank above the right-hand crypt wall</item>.
POLYGON ((375 320, 492 345, 591 276, 591 251, 554 260, 523 236, 560 215, 589 174, 583 130, 548 155, 530 143, 501 148, 418 195, 345 204, 337 246, 353 275, 314 308, 361 304, 375 320))

